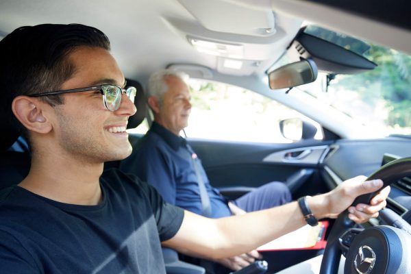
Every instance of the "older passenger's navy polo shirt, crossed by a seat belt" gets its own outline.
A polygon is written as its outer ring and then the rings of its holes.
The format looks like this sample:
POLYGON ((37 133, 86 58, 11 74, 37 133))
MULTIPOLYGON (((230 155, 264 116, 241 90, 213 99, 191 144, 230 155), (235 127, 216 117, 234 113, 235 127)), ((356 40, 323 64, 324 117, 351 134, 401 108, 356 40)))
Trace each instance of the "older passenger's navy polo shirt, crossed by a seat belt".
MULTIPOLYGON (((201 196, 191 155, 192 148, 184 138, 153 122, 132 155, 121 161, 120 169, 154 186, 169 203, 201 214, 201 196)), ((212 218, 230 216, 225 199, 210 185, 201 160, 195 161, 210 197, 212 218)))

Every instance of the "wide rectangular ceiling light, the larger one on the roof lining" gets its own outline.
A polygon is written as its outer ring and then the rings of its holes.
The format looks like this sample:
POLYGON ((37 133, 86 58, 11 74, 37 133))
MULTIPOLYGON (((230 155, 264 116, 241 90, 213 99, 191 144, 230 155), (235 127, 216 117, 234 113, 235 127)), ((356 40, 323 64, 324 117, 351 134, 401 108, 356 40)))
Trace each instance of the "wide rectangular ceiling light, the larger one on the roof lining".
POLYGON ((201 53, 234 59, 242 59, 244 57, 244 47, 242 45, 212 42, 197 38, 188 38, 188 41, 201 53))

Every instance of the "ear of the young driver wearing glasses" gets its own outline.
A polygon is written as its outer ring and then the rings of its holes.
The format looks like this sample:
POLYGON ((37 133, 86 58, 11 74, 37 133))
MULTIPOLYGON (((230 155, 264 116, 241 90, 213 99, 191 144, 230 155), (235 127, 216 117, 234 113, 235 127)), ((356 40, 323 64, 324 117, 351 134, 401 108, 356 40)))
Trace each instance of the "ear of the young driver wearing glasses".
POLYGON ((12 102, 12 111, 27 129, 46 134, 53 128, 45 112, 47 103, 38 99, 18 96, 12 102))

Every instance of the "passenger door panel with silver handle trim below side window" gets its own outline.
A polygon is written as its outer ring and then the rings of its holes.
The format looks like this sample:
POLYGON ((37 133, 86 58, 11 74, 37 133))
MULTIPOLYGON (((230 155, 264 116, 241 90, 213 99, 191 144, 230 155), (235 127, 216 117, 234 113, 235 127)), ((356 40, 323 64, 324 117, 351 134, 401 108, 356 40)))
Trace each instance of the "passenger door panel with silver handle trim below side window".
POLYGON ((188 142, 217 188, 258 187, 279 181, 286 182, 293 194, 310 188, 314 179, 318 183, 319 161, 332 143, 310 140, 271 144, 193 138, 188 142))

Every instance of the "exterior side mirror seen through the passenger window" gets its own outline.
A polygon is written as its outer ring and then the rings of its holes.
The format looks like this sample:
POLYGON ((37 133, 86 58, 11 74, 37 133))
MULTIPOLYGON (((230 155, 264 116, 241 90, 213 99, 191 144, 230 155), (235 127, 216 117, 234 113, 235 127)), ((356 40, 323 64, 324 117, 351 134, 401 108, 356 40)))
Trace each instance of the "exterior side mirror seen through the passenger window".
POLYGON ((285 119, 279 122, 279 131, 288 140, 312 140, 317 132, 315 125, 299 118, 285 119))

